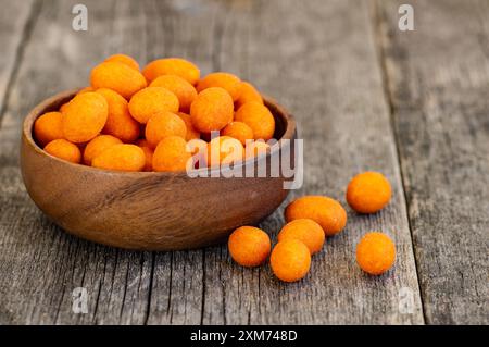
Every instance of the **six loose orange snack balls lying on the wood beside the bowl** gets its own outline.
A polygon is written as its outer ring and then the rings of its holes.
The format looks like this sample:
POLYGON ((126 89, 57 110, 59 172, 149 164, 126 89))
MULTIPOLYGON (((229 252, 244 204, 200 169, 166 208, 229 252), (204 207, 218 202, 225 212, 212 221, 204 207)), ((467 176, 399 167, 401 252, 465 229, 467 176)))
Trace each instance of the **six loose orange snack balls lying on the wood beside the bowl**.
MULTIPOLYGON (((358 213, 375 213, 390 200, 387 178, 377 172, 354 176, 347 188, 347 202, 358 213)), ((347 225, 347 211, 337 200, 326 196, 304 196, 285 210, 287 224, 277 236, 272 250, 269 236, 254 226, 238 227, 229 236, 231 258, 243 267, 266 262, 284 282, 303 278, 311 268, 311 257, 323 249, 326 237, 341 232, 347 225)), ((371 275, 388 271, 396 260, 396 246, 384 233, 365 234, 356 246, 356 262, 371 275)))

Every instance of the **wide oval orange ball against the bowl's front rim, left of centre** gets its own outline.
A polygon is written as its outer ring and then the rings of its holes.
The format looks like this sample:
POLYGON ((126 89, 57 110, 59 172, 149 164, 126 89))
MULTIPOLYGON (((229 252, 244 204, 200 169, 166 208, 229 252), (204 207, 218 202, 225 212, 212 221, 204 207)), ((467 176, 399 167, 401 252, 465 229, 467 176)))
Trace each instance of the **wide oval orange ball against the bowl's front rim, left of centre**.
POLYGON ((141 171, 146 165, 142 149, 136 145, 114 145, 95 157, 93 168, 116 171, 141 171))

